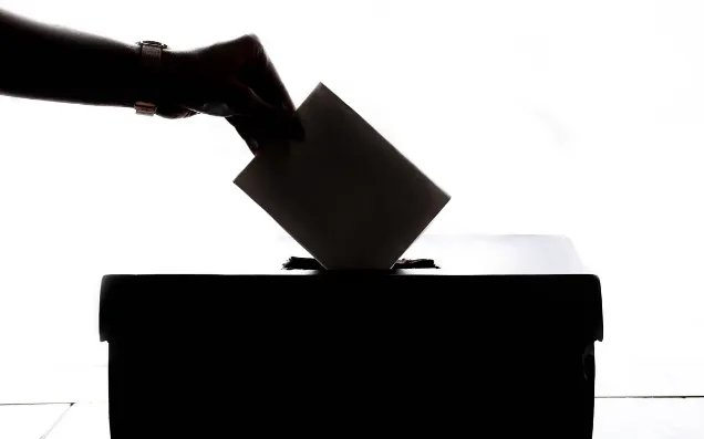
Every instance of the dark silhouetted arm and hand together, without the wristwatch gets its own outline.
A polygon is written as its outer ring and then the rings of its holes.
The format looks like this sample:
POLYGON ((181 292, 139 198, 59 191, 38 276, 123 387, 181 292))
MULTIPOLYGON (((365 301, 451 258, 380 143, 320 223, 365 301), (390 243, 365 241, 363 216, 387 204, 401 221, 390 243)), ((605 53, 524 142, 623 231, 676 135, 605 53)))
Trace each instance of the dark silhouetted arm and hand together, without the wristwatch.
POLYGON ((40 23, 0 9, 0 94, 74 104, 135 107, 154 103, 167 118, 221 116, 255 151, 300 138, 294 105, 255 35, 177 51, 156 67, 128 44, 40 23))

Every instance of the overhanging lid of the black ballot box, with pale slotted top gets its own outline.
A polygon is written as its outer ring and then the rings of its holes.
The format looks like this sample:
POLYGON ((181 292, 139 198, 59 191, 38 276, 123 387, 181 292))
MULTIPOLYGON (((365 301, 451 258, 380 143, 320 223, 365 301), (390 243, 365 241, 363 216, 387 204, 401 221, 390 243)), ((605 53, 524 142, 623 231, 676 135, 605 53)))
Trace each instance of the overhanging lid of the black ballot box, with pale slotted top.
POLYGON ((319 321, 322 331, 363 316, 415 324, 411 315, 472 318, 475 330, 479 321, 495 325, 491 318, 505 318, 506 327, 520 321, 530 325, 522 330, 542 336, 603 339, 599 278, 565 237, 423 237, 408 257, 433 259, 439 269, 389 272, 282 270, 289 244, 272 247, 268 263, 251 259, 241 274, 105 275, 101 341, 127 333, 183 335, 199 326, 242 330, 263 322, 319 321))

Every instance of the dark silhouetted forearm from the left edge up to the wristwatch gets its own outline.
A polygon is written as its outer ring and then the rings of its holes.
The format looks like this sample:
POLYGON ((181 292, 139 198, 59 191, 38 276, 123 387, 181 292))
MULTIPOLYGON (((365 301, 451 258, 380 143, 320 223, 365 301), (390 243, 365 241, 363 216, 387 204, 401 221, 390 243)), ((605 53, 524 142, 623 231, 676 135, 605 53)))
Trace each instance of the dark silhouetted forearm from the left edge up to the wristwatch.
POLYGON ((139 48, 0 10, 0 94, 90 105, 154 98, 139 48))

